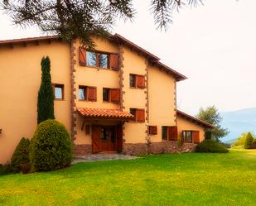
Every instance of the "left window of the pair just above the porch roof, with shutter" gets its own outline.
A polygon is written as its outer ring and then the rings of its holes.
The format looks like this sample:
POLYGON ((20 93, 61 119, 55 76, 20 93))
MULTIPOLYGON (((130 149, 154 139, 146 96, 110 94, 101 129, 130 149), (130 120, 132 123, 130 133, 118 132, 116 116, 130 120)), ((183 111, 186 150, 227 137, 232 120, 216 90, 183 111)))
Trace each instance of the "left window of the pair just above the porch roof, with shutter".
POLYGON ((97 88, 80 85, 78 97, 79 100, 97 101, 97 88))

